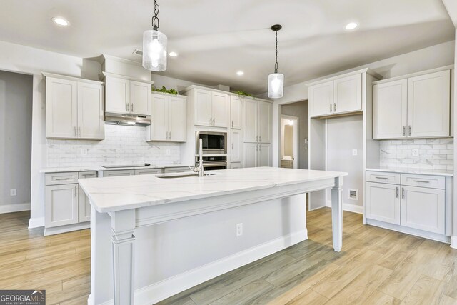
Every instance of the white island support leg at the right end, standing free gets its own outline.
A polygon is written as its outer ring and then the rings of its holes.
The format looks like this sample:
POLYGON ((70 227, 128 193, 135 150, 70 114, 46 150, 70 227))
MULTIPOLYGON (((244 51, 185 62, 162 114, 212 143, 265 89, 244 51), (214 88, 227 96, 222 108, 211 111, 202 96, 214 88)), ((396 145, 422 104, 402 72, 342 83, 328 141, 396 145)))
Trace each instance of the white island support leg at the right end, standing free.
POLYGON ((335 186, 331 189, 331 226, 333 249, 339 252, 343 246, 343 177, 335 178, 335 186))

